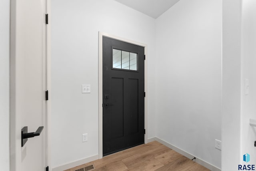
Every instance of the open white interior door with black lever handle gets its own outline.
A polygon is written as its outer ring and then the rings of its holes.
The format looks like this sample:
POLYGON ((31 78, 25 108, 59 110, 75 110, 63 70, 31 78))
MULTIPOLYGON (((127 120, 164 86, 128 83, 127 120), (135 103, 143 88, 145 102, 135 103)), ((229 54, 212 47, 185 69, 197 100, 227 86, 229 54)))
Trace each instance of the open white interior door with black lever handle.
POLYGON ((46 170, 46 0, 13 0, 11 8, 11 170, 46 170), (21 145, 28 133, 39 136, 21 145))

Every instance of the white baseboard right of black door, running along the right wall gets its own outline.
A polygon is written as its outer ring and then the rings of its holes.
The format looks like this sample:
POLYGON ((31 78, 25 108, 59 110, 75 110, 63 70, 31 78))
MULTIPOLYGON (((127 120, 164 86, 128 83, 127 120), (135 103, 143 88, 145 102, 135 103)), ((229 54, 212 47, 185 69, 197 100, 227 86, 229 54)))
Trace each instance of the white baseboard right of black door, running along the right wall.
MULTIPOLYGON (((184 155, 185 157, 188 157, 190 159, 193 159, 194 155, 191 155, 190 153, 187 153, 186 151, 183 151, 182 149, 179 149, 178 147, 175 147, 174 145, 171 145, 170 143, 167 143, 166 141, 158 138, 158 137, 153 137, 148 139, 148 143, 152 142, 152 141, 158 141, 159 143, 169 147, 170 149, 173 149, 174 151, 177 151, 178 153, 184 155)), ((207 163, 206 161, 203 161, 202 159, 199 159, 196 157, 196 159, 194 159, 194 161, 204 167, 206 167, 207 169, 210 169, 211 171, 221 171, 221 169, 219 169, 218 167, 211 165, 210 163, 207 163)))

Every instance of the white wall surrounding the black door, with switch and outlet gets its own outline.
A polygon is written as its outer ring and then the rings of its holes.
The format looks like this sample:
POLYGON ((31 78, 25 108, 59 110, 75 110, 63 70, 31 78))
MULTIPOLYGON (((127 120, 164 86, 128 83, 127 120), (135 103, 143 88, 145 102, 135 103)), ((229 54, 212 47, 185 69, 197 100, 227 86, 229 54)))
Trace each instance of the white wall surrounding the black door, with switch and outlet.
POLYGON ((51 17, 52 167, 98 154, 98 31, 148 45, 148 137, 154 137, 155 20, 114 0, 52 0, 51 17), (82 84, 91 85, 90 94, 81 93, 82 84))

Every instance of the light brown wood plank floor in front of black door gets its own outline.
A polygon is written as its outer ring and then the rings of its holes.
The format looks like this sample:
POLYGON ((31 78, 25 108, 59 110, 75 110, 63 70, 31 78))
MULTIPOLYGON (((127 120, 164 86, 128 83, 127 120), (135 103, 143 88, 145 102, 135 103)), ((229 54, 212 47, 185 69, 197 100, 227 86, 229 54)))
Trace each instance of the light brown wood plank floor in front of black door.
POLYGON ((88 165, 94 165, 94 171, 209 171, 157 141, 126 149, 66 171, 75 171, 88 165))

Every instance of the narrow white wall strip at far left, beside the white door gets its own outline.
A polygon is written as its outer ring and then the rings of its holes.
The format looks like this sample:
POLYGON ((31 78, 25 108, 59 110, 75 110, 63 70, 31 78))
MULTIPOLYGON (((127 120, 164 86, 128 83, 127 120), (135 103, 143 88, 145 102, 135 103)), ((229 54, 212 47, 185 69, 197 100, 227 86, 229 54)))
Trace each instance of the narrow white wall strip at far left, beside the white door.
POLYGON ((10 42, 10 0, 0 2, 0 166, 10 169, 9 152, 9 42, 10 42))

